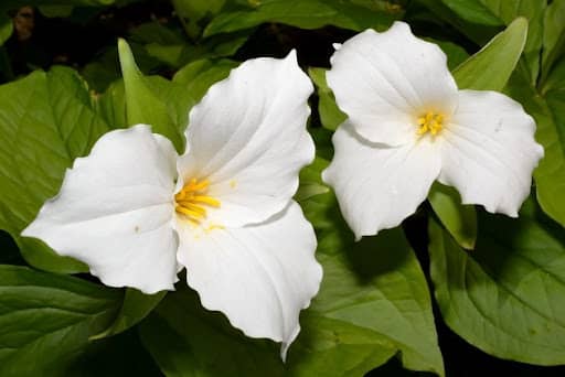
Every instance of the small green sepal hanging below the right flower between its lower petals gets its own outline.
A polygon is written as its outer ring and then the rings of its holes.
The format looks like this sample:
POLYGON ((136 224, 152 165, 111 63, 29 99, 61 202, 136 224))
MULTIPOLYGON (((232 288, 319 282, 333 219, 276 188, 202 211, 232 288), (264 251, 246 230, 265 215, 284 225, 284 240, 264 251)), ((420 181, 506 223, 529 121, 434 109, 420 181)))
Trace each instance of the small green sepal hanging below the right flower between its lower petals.
POLYGON ((434 183, 428 195, 431 208, 455 240, 472 250, 477 239, 477 212, 471 205, 461 205, 459 193, 448 186, 434 183))

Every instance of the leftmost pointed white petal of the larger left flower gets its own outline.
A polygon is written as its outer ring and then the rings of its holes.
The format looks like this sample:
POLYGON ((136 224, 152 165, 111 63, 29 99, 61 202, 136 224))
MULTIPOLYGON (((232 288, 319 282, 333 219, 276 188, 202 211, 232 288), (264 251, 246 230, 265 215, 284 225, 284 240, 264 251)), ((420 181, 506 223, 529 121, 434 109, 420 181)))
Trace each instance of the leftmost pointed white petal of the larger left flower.
POLYGON ((175 160, 171 142, 148 126, 108 132, 75 160, 22 235, 85 262, 107 286, 171 290, 175 160))

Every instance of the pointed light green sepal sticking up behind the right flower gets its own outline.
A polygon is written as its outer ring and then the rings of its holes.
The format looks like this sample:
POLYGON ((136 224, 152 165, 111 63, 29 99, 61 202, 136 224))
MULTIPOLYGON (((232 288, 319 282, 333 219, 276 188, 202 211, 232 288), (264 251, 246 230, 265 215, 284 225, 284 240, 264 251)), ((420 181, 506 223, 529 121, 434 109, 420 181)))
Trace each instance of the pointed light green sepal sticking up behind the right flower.
POLYGON ((525 45, 527 20, 519 18, 454 71, 460 89, 502 90, 525 45))

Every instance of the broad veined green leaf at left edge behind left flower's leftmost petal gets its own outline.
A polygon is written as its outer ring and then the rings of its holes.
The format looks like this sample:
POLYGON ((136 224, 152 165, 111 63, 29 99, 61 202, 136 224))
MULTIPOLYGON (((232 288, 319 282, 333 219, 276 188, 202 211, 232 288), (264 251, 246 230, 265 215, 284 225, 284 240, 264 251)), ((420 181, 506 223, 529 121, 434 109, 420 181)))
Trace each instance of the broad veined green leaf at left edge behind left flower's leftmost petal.
POLYGON ((87 271, 20 233, 58 192, 73 160, 86 155, 108 126, 96 115, 88 88, 73 69, 34 72, 0 86, 0 228, 14 237, 36 268, 87 271))

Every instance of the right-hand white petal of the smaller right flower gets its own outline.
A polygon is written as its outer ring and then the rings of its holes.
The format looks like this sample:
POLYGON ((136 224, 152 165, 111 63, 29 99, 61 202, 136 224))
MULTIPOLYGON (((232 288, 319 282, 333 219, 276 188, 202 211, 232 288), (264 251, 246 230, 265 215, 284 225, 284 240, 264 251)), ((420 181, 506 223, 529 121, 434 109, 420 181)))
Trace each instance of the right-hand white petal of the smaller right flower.
POLYGON ((459 107, 441 131, 439 181, 466 204, 518 216, 543 157, 535 122, 522 106, 495 91, 460 90, 459 107))

